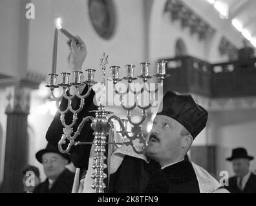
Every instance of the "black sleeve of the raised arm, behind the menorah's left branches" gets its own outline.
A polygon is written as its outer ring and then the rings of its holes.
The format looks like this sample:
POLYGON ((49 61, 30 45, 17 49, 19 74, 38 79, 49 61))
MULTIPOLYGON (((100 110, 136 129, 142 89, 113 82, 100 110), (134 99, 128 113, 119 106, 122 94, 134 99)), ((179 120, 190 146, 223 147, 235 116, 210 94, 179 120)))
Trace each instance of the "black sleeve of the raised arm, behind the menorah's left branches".
MULTIPOLYGON (((88 86, 85 87, 83 90, 83 94, 87 92, 88 86)), ((92 116, 95 117, 95 113, 90 113, 92 110, 97 110, 98 107, 94 105, 93 98, 94 98, 94 91, 91 90, 90 95, 85 98, 85 104, 83 106, 83 109, 78 113, 78 120, 76 124, 74 124, 73 131, 76 132, 76 129, 81 123, 81 120, 84 117, 92 116)), ((72 100, 73 101, 73 100, 72 100)), ((74 109, 78 109, 80 106, 80 99, 78 97, 74 98, 75 102, 72 102, 72 107, 74 109)), ((67 99, 63 98, 61 100, 60 109, 61 111, 65 110, 67 108, 68 101, 67 99)), ((65 123, 71 124, 73 118, 73 113, 70 111, 65 114, 65 123)), ((76 138, 76 142, 92 142, 94 139, 94 135, 92 134, 93 130, 91 129, 91 121, 85 122, 83 128, 81 129, 81 134, 76 138)), ((61 136, 63 134, 63 125, 61 124, 60 120, 60 114, 56 113, 54 120, 52 120, 52 123, 50 124, 50 127, 48 127, 48 131, 46 134, 46 139, 50 144, 54 145, 54 147, 58 148, 58 142, 61 139, 61 136)), ((69 144, 69 141, 67 140, 67 144, 69 144)), ((63 149, 67 147, 67 144, 63 145, 63 149), (66 146, 66 147, 65 147, 66 146)), ((91 145, 76 145, 75 147, 71 147, 70 149, 70 159, 75 167, 87 169, 88 167, 88 159, 91 151, 91 145)))

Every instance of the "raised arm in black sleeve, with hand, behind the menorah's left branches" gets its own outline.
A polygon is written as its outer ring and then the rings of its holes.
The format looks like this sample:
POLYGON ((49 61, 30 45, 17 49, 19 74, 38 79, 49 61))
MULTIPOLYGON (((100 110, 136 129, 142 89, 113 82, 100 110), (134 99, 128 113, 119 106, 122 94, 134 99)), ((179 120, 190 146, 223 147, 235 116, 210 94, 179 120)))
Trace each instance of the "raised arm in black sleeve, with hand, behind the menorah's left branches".
MULTIPOLYGON (((73 70, 81 70, 83 66, 83 62, 85 61, 85 57, 87 56, 87 48, 85 45, 85 42, 81 40, 80 37, 77 36, 79 39, 79 43, 76 44, 74 41, 68 41, 67 44, 69 46, 69 56, 67 57, 67 66, 70 70, 70 73, 72 73, 73 70)), ((85 94, 87 90, 89 89, 88 85, 84 85, 83 87, 80 87, 80 92, 82 94, 85 94)), ((76 132, 78 126, 81 123, 81 120, 84 117, 92 116, 94 117, 94 113, 89 113, 89 111, 98 109, 97 106, 94 105, 94 91, 91 90, 91 93, 89 97, 85 98, 85 104, 83 106, 83 109, 78 113, 78 120, 76 124, 74 124, 73 131, 76 132)), ((78 109, 80 106, 80 98, 75 97, 72 99, 72 103, 75 103, 74 109, 78 109)), ((61 100, 60 109, 63 111, 67 108, 68 101, 67 99, 63 98, 61 100)), ((73 119, 73 113, 70 111, 65 114, 65 123, 70 124, 73 119)), ((54 116, 54 119, 52 120, 52 123, 48 127, 48 131, 46 134, 46 139, 48 142, 50 142, 52 145, 58 148, 58 142, 61 139, 61 136, 63 134, 63 125, 61 124, 60 120, 60 114, 56 113, 54 116)), ((76 138, 75 141, 80 142, 92 142, 94 139, 94 135, 92 135, 93 130, 91 129, 91 122, 85 122, 85 125, 81 129, 81 134, 76 138)), ((63 146, 63 149, 65 149, 65 146, 69 144, 69 141, 67 140, 66 144, 63 146)), ((88 167, 88 161, 89 161, 89 154, 91 150, 91 145, 76 145, 73 146, 70 149, 70 158, 73 162, 73 164, 76 167, 87 169, 88 167)))

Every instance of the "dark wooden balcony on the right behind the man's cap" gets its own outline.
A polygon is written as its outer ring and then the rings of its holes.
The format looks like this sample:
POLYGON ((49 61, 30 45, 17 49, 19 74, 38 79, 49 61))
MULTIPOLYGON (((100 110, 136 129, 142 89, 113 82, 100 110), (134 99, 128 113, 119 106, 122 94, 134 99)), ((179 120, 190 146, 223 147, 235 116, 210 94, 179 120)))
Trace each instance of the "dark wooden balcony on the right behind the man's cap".
POLYGON ((195 93, 204 97, 256 96, 256 58, 210 64, 195 57, 165 59, 164 92, 195 93))

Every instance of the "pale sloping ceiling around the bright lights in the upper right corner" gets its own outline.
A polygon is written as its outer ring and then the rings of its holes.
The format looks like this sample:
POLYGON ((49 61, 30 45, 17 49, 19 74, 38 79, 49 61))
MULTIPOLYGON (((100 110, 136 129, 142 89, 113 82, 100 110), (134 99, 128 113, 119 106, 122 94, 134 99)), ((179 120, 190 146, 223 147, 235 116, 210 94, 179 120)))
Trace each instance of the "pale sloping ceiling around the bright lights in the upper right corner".
POLYGON ((233 27, 232 19, 237 19, 242 24, 242 28, 248 30, 251 37, 256 40, 256 0, 215 0, 215 2, 228 5, 228 19, 220 19, 219 12, 208 0, 182 1, 237 46, 242 46, 244 37, 242 37, 242 33, 233 27))

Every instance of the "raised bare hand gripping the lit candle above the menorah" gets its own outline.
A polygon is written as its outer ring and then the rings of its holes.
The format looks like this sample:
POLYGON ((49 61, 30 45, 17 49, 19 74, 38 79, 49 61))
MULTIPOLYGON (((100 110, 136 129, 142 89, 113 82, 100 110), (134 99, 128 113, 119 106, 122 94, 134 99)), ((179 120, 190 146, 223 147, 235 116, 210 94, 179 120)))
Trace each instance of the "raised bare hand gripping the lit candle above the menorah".
POLYGON ((67 66, 69 70, 81 70, 85 57, 87 56, 87 48, 85 42, 76 36, 79 43, 76 44, 75 41, 67 41, 69 46, 69 56, 67 57, 67 66))

